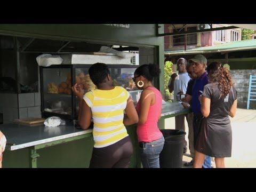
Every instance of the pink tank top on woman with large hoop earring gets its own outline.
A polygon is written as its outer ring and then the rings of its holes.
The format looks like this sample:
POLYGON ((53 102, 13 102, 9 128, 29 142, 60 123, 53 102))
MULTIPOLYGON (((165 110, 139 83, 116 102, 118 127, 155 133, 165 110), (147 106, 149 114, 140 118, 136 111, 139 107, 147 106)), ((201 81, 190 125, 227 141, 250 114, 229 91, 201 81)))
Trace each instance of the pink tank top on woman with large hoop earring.
MULTIPOLYGON (((163 136, 157 126, 159 113, 162 109, 162 94, 155 87, 148 87, 147 89, 154 91, 156 102, 149 107, 147 121, 144 124, 137 125, 139 142, 151 142, 160 139, 163 136)), ((140 100, 137 103, 136 109, 137 111, 140 111, 140 100)))

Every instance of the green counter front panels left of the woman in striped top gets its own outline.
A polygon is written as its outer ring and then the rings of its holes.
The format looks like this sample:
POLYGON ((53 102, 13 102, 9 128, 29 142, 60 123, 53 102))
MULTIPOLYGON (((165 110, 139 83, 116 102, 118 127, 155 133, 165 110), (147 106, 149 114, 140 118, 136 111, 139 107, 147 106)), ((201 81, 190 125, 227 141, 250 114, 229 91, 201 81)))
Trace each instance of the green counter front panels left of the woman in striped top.
MULTIPOLYGON (((89 167, 93 148, 93 137, 65 142, 51 147, 37 149, 37 167, 89 167)), ((5 150, 3 167, 31 167, 33 147, 5 150)))

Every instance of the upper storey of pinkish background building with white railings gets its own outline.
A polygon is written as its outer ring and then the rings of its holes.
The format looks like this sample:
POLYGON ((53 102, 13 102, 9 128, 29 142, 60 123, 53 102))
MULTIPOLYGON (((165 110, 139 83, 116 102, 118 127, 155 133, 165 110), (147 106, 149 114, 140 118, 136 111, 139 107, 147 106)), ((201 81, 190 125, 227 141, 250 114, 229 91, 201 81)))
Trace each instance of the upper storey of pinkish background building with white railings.
MULTIPOLYGON (((212 28, 228 27, 227 24, 210 24, 212 28)), ((164 33, 173 33, 174 31, 190 31, 197 29, 210 29, 209 24, 165 24, 164 33)), ((207 31, 204 33, 194 33, 187 35, 172 35, 164 37, 164 50, 189 50, 197 47, 214 46, 222 43, 241 41, 242 29, 225 29, 216 31, 207 31)))

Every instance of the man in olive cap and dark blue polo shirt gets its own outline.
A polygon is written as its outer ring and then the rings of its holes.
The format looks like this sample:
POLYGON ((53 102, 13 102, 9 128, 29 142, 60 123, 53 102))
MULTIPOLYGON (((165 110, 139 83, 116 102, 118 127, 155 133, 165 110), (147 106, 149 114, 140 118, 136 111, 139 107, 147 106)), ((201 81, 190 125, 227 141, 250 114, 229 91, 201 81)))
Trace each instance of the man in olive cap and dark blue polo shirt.
MULTIPOLYGON (((201 127, 203 115, 201 112, 201 102, 199 101, 199 95, 204 90, 204 85, 208 84, 207 71, 205 71, 207 60, 204 55, 195 55, 193 59, 189 59, 188 62, 192 63, 193 71, 196 74, 196 79, 192 88, 192 100, 191 110, 194 114, 193 128, 194 128, 194 147, 196 145, 197 135, 201 127)), ((211 157, 205 156, 203 168, 211 168, 211 157)))

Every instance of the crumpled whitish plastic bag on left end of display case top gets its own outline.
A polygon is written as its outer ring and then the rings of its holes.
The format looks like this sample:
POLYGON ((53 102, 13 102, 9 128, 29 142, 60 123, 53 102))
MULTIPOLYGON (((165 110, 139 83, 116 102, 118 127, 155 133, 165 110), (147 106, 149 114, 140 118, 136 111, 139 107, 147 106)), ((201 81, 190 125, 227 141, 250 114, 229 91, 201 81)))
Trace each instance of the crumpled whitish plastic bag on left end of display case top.
POLYGON ((39 66, 48 67, 51 65, 60 65, 63 59, 60 55, 41 54, 36 57, 39 66))

